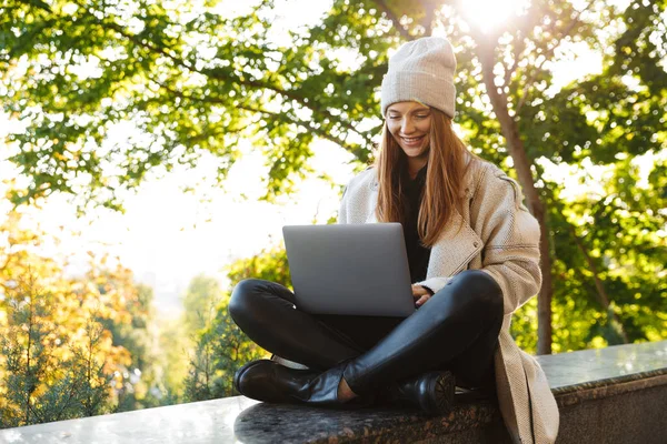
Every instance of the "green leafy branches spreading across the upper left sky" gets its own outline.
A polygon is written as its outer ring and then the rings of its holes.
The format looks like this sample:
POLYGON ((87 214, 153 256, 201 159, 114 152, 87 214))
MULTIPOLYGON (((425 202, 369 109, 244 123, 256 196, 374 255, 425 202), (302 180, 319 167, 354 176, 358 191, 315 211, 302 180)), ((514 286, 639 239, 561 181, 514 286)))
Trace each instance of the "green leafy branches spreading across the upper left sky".
POLYGON ((12 201, 64 192, 121 209, 120 190, 157 167, 193 164, 201 150, 220 158, 223 178, 241 138, 271 165, 267 198, 309 171, 315 137, 368 157, 375 129, 352 122, 372 110, 381 69, 344 69, 308 32, 275 43, 271 7, 240 17, 143 0, 2 7, 3 109, 28 124, 10 135, 10 160, 33 179, 12 201), (143 135, 112 138, 119 122, 143 135))

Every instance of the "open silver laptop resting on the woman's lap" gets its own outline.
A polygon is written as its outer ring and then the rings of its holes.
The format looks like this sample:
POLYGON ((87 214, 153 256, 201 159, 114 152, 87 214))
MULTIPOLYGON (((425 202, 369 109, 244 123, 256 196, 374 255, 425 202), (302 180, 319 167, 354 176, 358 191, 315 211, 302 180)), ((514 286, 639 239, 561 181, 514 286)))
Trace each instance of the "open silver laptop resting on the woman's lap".
POLYGON ((300 310, 401 317, 415 312, 400 223, 286 225, 282 235, 300 310))

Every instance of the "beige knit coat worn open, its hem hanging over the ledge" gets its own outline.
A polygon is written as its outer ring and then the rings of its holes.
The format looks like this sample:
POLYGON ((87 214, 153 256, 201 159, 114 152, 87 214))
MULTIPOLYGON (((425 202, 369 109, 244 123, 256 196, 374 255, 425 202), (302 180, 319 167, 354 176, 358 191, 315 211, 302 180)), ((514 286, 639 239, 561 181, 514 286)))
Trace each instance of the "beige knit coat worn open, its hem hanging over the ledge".
MULTIPOLYGON (((339 223, 377 222, 378 188, 375 169, 355 176, 340 203, 339 223)), ((427 279, 420 283, 437 292, 464 270, 485 271, 498 282, 505 317, 495 366, 502 418, 516 443, 552 443, 559 423, 556 401, 539 364, 509 333, 512 313, 541 284, 539 225, 521 203, 518 183, 491 163, 472 161, 465 192, 462 214, 455 213, 432 246, 427 279)))

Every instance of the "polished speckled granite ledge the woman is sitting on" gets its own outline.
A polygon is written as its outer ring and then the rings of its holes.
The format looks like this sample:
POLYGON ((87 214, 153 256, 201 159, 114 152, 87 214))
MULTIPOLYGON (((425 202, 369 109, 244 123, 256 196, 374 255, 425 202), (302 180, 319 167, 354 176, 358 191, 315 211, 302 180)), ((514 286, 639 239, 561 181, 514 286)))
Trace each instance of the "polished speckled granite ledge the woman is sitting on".
MULTIPOLYGON (((539 361, 561 406, 559 443, 576 442, 577 433, 608 428, 609 421, 618 433, 643 421, 667 430, 663 420, 667 341, 540 356, 539 361), (617 396, 623 393, 626 396, 617 396), (624 404, 634 410, 624 413, 624 404), (646 406, 653 408, 653 416, 641 413, 646 406), (614 412, 629 423, 615 420, 614 412)), ((643 432, 641 427, 633 430, 643 443, 660 442, 651 441, 659 435, 643 432)), ((601 441, 579 443, 614 442, 605 436, 618 442, 625 435, 600 436, 601 441)), ((267 405, 242 396, 0 431, 0 443, 10 444, 338 442, 502 443, 509 438, 492 401, 461 403, 448 416, 428 417, 407 410, 267 405)))

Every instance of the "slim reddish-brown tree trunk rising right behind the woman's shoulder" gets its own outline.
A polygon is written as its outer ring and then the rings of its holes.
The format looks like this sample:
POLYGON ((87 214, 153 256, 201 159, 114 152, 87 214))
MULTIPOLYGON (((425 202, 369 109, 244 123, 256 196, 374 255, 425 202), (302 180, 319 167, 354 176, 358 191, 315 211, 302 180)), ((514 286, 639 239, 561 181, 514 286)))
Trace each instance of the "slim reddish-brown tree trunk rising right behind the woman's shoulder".
MULTIPOLYGON (((492 41, 492 39, 490 40, 492 41)), ((481 63, 487 94, 489 94, 494 112, 500 122, 502 135, 507 140, 507 149, 514 161, 514 167, 517 171, 524 193, 526 194, 528 208, 535 219, 537 219, 541 232, 539 250, 541 256, 540 270, 542 274, 542 285, 537 299, 537 354, 551 354, 551 296, 554 294, 554 287, 551 281, 549 232, 546 224, 545 205, 535 188, 532 173, 530 172, 531 162, 526 154, 524 142, 519 137, 517 122, 509 115, 507 97, 502 91, 498 91, 498 87, 496 87, 494 74, 494 65, 496 64, 495 48, 485 44, 481 39, 477 40, 477 56, 481 63)))

